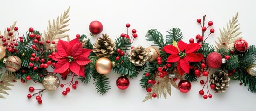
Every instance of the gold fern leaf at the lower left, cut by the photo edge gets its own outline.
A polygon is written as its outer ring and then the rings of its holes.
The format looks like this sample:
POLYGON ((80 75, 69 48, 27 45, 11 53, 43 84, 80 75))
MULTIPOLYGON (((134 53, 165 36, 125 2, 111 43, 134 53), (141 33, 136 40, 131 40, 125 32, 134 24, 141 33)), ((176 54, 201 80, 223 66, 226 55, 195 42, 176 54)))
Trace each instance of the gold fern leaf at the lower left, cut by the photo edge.
POLYGON ((2 72, 2 68, 0 68, 0 98, 5 98, 1 93, 9 95, 5 90, 11 90, 11 88, 7 86, 14 86, 10 82, 14 82, 15 76, 14 74, 9 74, 8 70, 5 71, 5 73, 2 72))

